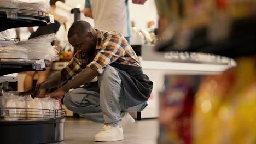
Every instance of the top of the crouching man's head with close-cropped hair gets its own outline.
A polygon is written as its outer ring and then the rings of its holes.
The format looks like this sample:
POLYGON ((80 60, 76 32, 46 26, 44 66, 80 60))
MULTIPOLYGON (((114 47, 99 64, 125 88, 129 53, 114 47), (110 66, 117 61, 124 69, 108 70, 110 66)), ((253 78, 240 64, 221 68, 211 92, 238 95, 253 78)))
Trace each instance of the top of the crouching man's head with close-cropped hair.
POLYGON ((86 21, 75 21, 68 30, 68 38, 77 34, 78 36, 87 36, 94 28, 86 21))

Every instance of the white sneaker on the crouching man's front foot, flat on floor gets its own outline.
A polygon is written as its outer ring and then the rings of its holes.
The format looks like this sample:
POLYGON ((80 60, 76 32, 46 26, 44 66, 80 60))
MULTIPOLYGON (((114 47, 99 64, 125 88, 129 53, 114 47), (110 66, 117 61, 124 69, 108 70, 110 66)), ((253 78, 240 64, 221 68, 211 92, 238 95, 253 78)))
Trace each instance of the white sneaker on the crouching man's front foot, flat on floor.
POLYGON ((120 141, 124 139, 123 128, 119 125, 113 127, 112 125, 104 125, 100 133, 95 135, 95 141, 110 142, 110 141, 120 141))

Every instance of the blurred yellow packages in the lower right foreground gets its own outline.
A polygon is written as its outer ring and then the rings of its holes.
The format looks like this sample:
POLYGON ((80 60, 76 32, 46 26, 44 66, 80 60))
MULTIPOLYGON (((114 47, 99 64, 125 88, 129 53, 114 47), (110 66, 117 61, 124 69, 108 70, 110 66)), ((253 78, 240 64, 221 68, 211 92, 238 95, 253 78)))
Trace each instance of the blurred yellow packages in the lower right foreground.
POLYGON ((242 57, 237 67, 202 81, 194 107, 194 143, 255 143, 255 66, 255 57, 242 57))

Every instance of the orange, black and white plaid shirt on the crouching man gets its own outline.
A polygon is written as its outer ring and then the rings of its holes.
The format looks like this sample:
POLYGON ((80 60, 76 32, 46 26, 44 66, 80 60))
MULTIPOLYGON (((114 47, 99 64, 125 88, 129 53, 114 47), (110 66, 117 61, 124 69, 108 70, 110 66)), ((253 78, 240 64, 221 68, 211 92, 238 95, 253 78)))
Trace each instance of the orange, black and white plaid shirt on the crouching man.
POLYGON ((67 79, 79 74, 84 68, 89 67, 102 74, 104 68, 111 63, 141 67, 138 57, 127 40, 114 31, 97 31, 97 45, 92 56, 82 56, 75 53, 69 64, 62 69, 67 79))

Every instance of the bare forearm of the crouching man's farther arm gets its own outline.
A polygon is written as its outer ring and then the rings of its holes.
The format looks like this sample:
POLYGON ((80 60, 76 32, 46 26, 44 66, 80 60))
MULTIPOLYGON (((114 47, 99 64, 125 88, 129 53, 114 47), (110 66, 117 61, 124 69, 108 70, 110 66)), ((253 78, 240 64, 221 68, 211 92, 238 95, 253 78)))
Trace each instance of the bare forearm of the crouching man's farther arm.
POLYGON ((65 80, 61 78, 61 72, 59 71, 55 75, 51 76, 49 79, 41 83, 40 89, 53 88, 61 85, 65 80))

